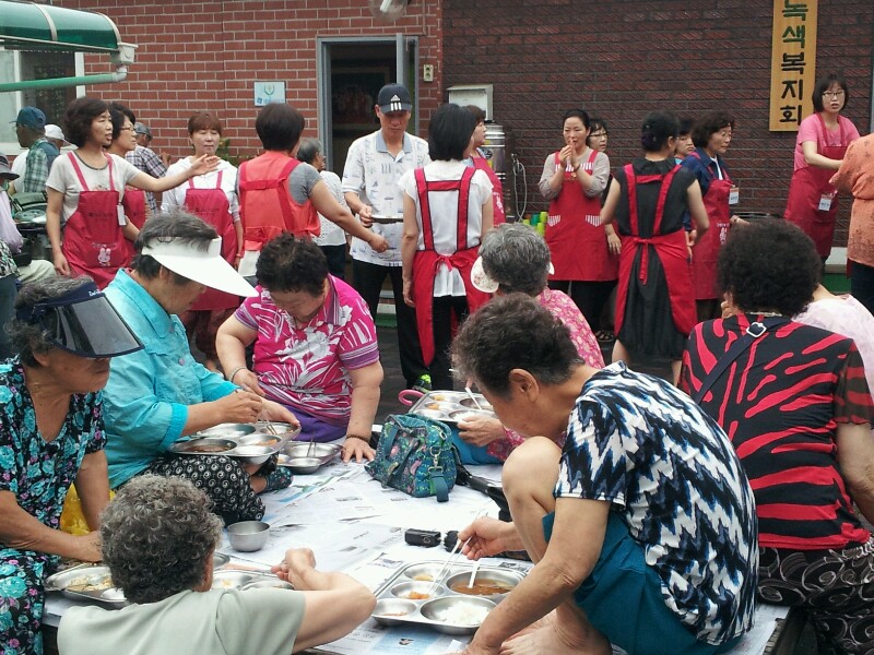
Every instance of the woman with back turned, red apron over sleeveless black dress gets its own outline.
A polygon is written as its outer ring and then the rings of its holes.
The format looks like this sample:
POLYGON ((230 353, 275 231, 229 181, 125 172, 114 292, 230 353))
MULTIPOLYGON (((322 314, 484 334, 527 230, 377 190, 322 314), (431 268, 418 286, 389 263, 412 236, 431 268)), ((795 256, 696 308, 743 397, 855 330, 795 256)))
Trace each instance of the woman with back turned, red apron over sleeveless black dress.
POLYGON ((602 213, 622 239, 613 361, 671 359, 675 382, 696 323, 684 216, 692 214, 699 236, 709 225, 700 186, 674 162, 678 130, 671 114, 647 116, 643 157, 616 172, 602 213))

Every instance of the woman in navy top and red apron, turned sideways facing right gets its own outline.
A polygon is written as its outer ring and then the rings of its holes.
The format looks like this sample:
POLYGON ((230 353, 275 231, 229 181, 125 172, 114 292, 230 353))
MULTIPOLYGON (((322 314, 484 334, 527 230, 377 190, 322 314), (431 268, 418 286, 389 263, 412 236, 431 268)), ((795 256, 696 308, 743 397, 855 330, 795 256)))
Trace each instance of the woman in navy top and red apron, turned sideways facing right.
MULTIPOLYGON (((722 159, 731 143, 733 129, 734 119, 722 111, 700 118, 692 128, 695 152, 682 164, 698 180, 707 215, 710 218, 710 229, 704 235, 698 235, 692 248, 698 321, 709 321, 720 315, 717 260, 734 218, 731 207, 740 201, 740 190, 732 183, 722 159)), ((694 227, 687 226, 693 229, 694 227)))

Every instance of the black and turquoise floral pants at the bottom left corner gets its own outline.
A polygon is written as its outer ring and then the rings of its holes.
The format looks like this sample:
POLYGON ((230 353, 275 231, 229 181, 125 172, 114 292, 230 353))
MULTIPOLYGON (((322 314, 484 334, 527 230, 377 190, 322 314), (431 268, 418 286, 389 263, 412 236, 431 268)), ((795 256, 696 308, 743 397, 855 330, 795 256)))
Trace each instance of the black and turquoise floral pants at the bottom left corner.
POLYGON ((43 581, 52 557, 0 548, 0 655, 42 655, 43 581))

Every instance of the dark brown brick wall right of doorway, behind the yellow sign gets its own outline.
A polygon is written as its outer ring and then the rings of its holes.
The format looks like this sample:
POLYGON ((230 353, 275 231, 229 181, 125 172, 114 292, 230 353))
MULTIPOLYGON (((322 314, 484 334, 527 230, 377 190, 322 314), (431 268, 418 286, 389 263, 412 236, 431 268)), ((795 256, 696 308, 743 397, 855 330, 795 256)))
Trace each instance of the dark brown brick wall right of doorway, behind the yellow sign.
MULTIPOLYGON (((444 0, 444 86, 492 83, 497 122, 528 169, 529 209, 562 115, 580 106, 610 123, 614 167, 639 154, 647 111, 727 110, 727 160, 741 209, 782 213, 795 134, 768 131, 770 0, 444 0)), ((845 115, 867 132, 874 2, 819 0, 817 71, 839 70, 845 115)), ((836 245, 846 245, 848 205, 836 245)))

